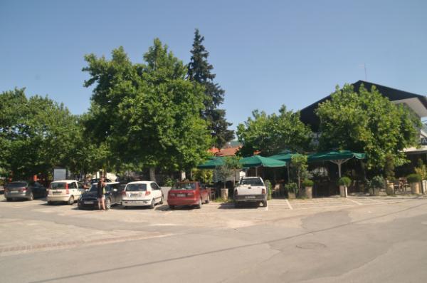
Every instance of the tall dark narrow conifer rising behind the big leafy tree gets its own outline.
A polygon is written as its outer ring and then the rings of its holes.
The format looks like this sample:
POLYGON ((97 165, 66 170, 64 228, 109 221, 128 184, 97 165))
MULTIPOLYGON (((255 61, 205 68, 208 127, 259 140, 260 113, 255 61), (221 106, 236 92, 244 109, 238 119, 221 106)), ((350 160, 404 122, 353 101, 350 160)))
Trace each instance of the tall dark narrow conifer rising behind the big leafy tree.
POLYGON ((216 75, 211 73, 214 67, 208 63, 209 52, 202 45, 203 41, 204 36, 200 35, 199 29, 196 29, 188 76, 191 81, 196 81, 205 88, 205 109, 201 114, 208 123, 212 135, 214 135, 215 146, 222 148, 223 145, 234 138, 234 133, 233 130, 228 130, 228 127, 232 124, 226 120, 226 110, 218 109, 218 106, 224 101, 225 91, 218 83, 214 83, 216 75))

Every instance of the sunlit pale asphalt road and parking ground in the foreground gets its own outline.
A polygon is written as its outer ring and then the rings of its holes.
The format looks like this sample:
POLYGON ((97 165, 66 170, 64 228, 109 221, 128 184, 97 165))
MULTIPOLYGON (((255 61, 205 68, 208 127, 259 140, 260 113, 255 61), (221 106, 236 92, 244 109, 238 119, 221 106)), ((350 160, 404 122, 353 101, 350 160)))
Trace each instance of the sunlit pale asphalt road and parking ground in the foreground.
POLYGON ((98 212, 1 200, 0 281, 426 282, 427 199, 338 202, 98 212))

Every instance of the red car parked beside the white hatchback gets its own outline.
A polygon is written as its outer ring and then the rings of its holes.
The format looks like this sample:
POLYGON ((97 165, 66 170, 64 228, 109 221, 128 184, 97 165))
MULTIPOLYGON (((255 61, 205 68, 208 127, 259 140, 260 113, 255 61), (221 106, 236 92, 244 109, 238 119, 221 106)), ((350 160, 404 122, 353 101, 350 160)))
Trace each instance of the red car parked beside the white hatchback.
POLYGON ((211 201, 211 189, 202 187, 200 182, 176 182, 167 194, 167 204, 173 210, 177 205, 196 205, 211 201))

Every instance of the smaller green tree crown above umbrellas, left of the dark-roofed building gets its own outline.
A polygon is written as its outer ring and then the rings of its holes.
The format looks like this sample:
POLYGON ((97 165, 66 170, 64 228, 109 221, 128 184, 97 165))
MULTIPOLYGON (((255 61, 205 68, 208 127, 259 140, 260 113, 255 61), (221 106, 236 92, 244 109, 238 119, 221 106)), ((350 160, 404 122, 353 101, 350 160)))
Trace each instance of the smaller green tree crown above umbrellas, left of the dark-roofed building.
POLYGON ((238 140, 243 144, 241 154, 253 155, 259 150, 263 155, 273 155, 280 150, 310 149, 310 128, 301 122, 300 113, 280 107, 279 114, 267 115, 254 110, 253 118, 237 127, 238 140))

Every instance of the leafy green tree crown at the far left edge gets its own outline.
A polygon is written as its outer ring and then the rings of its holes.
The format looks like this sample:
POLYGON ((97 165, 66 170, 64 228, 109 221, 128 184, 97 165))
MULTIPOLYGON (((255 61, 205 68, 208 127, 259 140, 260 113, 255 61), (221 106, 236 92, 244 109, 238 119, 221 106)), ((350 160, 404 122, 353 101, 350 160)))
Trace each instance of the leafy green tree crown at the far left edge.
POLYGON ((78 116, 50 98, 26 98, 24 88, 0 94, 0 168, 28 179, 72 163, 82 128, 78 116))

